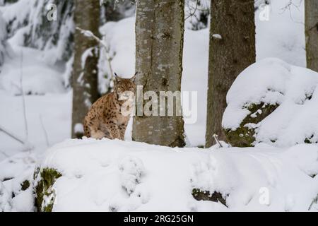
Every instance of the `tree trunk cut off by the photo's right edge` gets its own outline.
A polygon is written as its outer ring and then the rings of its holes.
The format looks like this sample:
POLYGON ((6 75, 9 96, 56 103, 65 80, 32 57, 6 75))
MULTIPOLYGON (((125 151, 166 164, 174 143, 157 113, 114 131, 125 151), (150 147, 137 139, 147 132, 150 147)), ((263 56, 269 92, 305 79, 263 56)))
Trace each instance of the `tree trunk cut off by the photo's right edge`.
POLYGON ((305 0, 307 68, 318 72, 318 1, 305 0))

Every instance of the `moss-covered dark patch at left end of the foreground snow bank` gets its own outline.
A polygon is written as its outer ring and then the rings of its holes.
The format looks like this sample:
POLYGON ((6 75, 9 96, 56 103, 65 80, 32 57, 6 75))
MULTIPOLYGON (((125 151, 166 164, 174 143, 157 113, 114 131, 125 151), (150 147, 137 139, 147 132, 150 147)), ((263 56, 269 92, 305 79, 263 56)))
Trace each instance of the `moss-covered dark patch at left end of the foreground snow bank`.
POLYGON ((54 182, 61 177, 57 169, 35 169, 35 206, 37 211, 52 212, 55 190, 52 189, 54 182))

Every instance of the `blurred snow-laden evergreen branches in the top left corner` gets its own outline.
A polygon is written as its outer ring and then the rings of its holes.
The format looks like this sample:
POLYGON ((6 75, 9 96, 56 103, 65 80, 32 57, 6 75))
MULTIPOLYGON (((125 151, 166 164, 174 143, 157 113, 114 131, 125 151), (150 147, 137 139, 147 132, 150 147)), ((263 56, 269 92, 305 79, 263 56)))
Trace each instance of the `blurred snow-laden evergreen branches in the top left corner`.
POLYGON ((71 13, 73 3, 68 1, 57 4, 54 13, 57 13, 61 23, 52 20, 52 10, 47 8, 52 4, 52 0, 19 0, 0 7, 8 25, 9 37, 15 37, 16 44, 20 46, 44 50, 42 58, 50 65, 59 64, 71 57, 70 41, 75 30, 71 13))

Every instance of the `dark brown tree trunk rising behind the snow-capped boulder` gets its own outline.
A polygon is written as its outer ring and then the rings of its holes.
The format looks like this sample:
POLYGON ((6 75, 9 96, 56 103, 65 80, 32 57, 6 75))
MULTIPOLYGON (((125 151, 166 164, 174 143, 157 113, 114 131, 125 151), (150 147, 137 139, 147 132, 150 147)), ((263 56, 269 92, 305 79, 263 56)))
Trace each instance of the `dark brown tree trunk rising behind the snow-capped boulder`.
POLYGON ((255 62, 254 1, 211 1, 206 147, 225 141, 222 117, 235 78, 255 62))

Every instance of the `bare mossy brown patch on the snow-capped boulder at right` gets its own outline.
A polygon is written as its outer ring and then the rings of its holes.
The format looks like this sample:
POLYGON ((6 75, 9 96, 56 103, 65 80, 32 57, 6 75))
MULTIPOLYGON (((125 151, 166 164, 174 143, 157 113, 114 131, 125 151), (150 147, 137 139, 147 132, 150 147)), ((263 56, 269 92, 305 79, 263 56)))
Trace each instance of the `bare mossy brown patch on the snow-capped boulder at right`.
POLYGON ((260 104, 247 105, 245 109, 249 110, 249 114, 236 130, 225 129, 225 137, 228 143, 235 147, 252 147, 255 141, 255 129, 247 127, 246 124, 258 124, 260 121, 269 116, 278 105, 269 105, 261 102, 260 104), (259 113, 259 110, 261 112, 259 113), (256 117, 252 117, 256 116, 256 117))

